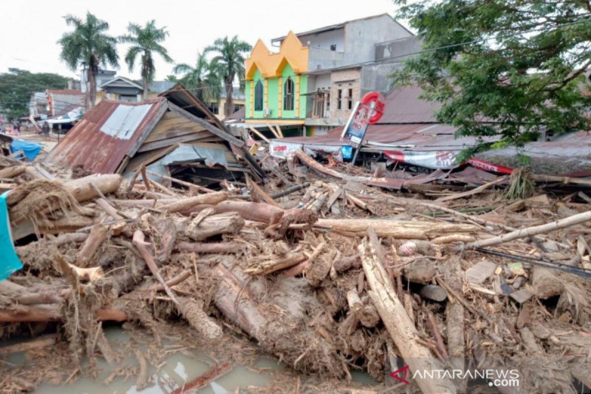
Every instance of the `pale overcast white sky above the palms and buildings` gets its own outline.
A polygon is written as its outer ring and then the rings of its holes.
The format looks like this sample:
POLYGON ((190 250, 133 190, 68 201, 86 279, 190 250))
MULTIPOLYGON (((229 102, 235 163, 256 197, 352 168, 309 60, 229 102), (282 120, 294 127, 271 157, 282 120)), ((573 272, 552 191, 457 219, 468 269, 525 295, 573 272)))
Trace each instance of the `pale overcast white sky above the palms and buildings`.
MULTIPOLYGON (((237 34, 254 45, 258 38, 271 48, 272 38, 293 30, 298 33, 350 19, 387 12, 395 16, 392 0, 2 0, 0 34, 0 72, 9 67, 32 72, 59 73, 80 79, 60 62, 57 40, 71 30, 63 17, 83 17, 87 11, 109 22, 109 33, 126 33, 129 22, 144 25, 151 19, 157 27, 166 27, 169 36, 164 46, 176 63, 196 61, 197 51, 218 37, 237 34)), ((124 64, 125 46, 119 44, 118 74, 139 79, 139 67, 129 73, 124 64)), ((156 56, 156 79, 172 73, 173 64, 156 56)))

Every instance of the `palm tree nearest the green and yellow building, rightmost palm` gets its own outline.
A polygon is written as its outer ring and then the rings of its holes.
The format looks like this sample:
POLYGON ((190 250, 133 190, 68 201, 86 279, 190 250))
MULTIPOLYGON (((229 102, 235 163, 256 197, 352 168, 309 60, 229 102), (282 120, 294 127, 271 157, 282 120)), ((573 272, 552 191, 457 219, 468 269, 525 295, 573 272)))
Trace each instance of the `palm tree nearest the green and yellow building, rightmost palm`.
POLYGON ((216 56, 212 62, 217 65, 220 76, 223 78, 226 89, 226 104, 224 106, 225 116, 232 115, 234 102, 232 100, 232 85, 236 77, 240 80, 240 87, 243 89, 244 80, 244 54, 252 50, 250 44, 238 40, 238 36, 228 41, 228 36, 217 38, 213 45, 205 48, 204 53, 215 52, 216 56))

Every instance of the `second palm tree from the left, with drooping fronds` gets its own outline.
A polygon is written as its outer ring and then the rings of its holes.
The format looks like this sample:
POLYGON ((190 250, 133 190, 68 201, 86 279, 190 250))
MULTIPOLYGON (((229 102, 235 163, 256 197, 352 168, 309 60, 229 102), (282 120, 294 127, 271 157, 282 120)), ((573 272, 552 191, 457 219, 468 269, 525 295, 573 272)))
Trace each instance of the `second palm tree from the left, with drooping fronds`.
POLYGON ((138 24, 130 23, 127 27, 128 35, 119 37, 121 43, 132 44, 125 55, 125 63, 129 67, 129 72, 134 71, 135 59, 141 53, 140 64, 142 67, 142 87, 144 89, 144 100, 148 97, 148 84, 154 80, 156 67, 152 53, 159 54, 167 63, 172 63, 173 59, 168 56, 168 51, 162 45, 168 32, 163 28, 155 26, 156 21, 152 19, 144 27, 138 24))

